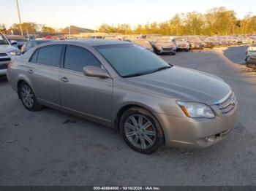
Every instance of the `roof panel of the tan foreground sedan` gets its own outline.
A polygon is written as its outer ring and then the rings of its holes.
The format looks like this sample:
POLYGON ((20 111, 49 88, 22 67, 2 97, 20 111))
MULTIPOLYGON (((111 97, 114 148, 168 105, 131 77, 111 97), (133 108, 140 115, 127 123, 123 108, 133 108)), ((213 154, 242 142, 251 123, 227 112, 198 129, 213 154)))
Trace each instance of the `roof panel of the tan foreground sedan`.
POLYGON ((50 42, 50 44, 78 44, 86 46, 103 46, 112 44, 130 44, 130 42, 116 41, 116 40, 104 40, 104 39, 74 39, 74 40, 61 40, 50 42))

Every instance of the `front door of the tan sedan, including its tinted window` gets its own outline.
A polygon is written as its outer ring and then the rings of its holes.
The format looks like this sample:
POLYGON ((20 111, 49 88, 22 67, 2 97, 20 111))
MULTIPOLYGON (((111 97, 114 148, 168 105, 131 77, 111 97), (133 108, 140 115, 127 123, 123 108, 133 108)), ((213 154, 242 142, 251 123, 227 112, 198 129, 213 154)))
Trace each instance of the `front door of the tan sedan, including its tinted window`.
POLYGON ((60 70, 60 97, 64 109, 69 109, 110 122, 113 79, 86 77, 84 66, 102 67, 86 48, 67 45, 64 67, 60 70))

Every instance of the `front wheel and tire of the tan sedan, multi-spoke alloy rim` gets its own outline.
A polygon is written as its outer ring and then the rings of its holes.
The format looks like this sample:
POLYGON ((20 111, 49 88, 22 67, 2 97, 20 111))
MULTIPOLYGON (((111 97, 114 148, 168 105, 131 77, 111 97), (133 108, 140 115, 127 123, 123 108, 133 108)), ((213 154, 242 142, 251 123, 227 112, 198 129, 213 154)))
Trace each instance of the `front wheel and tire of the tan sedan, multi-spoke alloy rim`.
POLYGON ((132 107, 124 112, 120 120, 120 130, 127 145, 143 154, 157 152, 165 141, 156 117, 139 107, 132 107))

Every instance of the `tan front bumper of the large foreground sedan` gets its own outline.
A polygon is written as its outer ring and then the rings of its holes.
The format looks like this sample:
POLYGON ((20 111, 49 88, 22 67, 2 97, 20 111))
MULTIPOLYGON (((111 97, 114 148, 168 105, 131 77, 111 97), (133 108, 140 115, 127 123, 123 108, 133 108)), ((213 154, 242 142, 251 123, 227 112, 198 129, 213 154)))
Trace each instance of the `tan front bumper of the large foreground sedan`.
MULTIPOLYGON (((217 111, 217 106, 214 108, 217 111)), ((200 149, 225 139, 232 131, 237 118, 237 105, 227 114, 217 113, 214 119, 176 117, 159 114, 167 147, 200 149), (208 140, 206 140, 208 138, 208 140)))

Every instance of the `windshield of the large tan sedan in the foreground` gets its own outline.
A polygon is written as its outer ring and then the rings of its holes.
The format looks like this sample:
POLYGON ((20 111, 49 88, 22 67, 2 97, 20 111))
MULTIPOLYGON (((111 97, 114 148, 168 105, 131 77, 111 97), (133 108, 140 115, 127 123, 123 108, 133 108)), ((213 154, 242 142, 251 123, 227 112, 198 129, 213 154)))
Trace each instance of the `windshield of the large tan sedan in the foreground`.
POLYGON ((135 77, 170 68, 170 64, 136 44, 113 44, 95 48, 121 77, 135 77))

